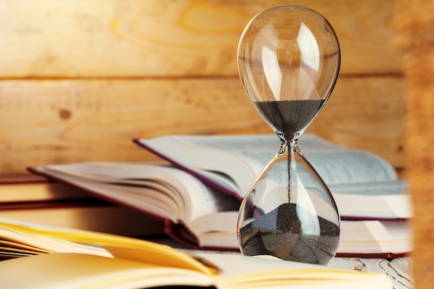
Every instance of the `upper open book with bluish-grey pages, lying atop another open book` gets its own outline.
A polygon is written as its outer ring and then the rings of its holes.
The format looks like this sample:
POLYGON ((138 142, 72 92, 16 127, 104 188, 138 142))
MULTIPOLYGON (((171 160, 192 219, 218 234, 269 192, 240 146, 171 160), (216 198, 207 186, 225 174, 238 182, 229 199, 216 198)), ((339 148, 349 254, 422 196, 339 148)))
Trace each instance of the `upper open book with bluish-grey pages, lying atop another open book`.
MULTIPOLYGON (((134 142, 240 200, 279 148, 275 134, 167 135, 134 142)), ((313 134, 304 134, 298 144, 329 186, 342 219, 411 217, 405 183, 381 157, 313 134)))

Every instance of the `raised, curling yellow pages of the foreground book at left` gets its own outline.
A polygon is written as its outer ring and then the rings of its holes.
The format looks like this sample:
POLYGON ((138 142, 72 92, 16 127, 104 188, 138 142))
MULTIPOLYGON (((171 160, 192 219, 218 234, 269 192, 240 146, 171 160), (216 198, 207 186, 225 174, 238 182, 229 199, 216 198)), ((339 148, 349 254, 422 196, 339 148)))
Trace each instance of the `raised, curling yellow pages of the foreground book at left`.
MULTIPOLYGON (((184 252, 147 240, 0 218, 0 236, 17 244, 55 253, 118 256, 135 261, 196 270, 209 269, 184 252), (90 245, 89 245, 90 244, 90 245), (133 252, 133 253, 131 253, 133 252)), ((0 262, 1 263, 1 262, 0 262)))

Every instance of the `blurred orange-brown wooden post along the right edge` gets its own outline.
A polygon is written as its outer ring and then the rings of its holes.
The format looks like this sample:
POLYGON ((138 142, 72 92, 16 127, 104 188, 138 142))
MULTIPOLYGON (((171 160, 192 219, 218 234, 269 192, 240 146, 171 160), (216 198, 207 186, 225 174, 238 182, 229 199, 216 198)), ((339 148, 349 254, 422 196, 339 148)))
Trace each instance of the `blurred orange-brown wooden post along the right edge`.
POLYGON ((434 1, 396 0, 394 44, 405 66, 406 161, 413 200, 415 288, 434 286, 434 1))

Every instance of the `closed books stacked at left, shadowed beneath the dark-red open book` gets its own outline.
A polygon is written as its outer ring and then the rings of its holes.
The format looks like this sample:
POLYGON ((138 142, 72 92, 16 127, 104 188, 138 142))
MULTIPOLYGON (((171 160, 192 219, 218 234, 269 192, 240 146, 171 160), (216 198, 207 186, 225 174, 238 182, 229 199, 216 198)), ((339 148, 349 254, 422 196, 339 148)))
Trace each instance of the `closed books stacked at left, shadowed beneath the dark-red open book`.
POLYGON ((152 218, 34 174, 0 177, 0 218, 125 236, 164 234, 152 218))

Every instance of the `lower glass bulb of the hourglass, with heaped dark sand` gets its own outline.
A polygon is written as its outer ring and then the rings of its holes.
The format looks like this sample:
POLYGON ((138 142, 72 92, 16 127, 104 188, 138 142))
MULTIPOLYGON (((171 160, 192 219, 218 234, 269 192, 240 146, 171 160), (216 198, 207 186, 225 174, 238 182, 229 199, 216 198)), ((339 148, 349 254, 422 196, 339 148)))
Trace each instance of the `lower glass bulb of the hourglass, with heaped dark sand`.
POLYGON ((245 196, 238 243, 245 255, 327 264, 339 245, 339 222, 327 186, 292 141, 283 144, 245 196))

